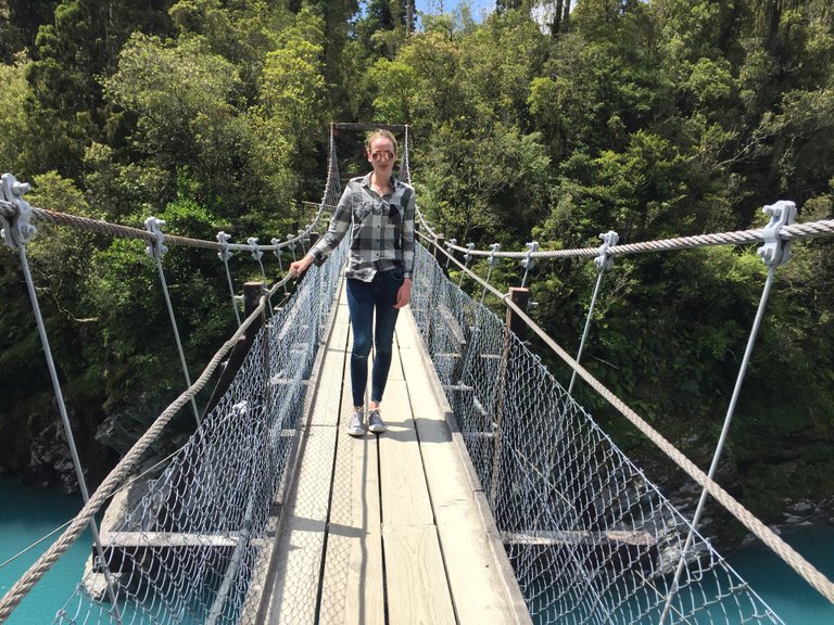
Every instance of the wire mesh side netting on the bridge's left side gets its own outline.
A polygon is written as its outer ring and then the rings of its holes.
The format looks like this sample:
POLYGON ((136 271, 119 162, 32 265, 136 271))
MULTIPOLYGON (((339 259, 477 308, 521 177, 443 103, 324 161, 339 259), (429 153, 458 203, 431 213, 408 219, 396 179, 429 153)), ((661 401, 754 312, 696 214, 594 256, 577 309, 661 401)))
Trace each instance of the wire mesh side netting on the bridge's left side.
POLYGON ((228 392, 156 477, 114 498, 97 557, 55 623, 254 623, 269 514, 286 486, 344 246, 267 315, 228 392), (118 615, 117 615, 118 614, 118 615))

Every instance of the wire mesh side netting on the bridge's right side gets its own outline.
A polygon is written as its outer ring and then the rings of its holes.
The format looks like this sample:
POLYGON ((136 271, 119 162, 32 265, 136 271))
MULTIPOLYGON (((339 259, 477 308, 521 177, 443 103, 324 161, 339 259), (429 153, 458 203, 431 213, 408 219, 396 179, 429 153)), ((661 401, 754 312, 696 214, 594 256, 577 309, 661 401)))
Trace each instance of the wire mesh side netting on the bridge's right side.
POLYGON ((412 309, 535 623, 782 623, 506 324, 417 246, 412 309))

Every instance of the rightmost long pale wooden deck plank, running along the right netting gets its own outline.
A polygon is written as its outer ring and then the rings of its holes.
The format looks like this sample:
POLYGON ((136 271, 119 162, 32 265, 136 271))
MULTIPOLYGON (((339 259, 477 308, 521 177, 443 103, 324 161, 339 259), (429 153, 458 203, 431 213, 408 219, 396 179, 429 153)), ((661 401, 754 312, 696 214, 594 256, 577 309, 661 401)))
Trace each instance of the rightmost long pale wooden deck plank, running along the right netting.
POLYGON ((409 315, 397 341, 412 410, 420 416, 417 433, 457 617, 460 623, 530 623, 494 521, 477 501, 480 485, 468 454, 459 452, 463 442, 454 442, 448 406, 438 395, 439 381, 431 380, 409 315))

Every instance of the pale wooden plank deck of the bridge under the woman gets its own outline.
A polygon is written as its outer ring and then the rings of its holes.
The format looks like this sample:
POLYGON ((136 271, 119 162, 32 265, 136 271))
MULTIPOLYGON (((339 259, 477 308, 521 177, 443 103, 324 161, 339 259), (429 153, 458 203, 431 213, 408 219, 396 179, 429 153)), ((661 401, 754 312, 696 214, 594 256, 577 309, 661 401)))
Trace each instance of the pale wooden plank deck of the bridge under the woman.
POLYGON ((530 623, 410 310, 397 321, 379 436, 345 433, 349 334, 342 293, 308 387, 263 622, 530 623))

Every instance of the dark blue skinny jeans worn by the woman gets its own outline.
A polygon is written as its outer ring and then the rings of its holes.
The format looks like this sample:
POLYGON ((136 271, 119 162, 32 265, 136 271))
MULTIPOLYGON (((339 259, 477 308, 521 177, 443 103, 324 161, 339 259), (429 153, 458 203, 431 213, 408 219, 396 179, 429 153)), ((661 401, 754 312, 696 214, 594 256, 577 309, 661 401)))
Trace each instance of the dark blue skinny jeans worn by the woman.
POLYGON ((351 387, 354 407, 365 405, 368 385, 368 356, 374 337, 374 372, 370 382, 370 400, 382 401, 394 343, 394 326, 400 314, 396 292, 403 285, 403 272, 378 271, 371 282, 348 279, 348 309, 351 311, 353 350, 351 352, 351 387), (374 314, 377 323, 374 329, 374 314), (372 334, 371 334, 372 333, 372 334))

